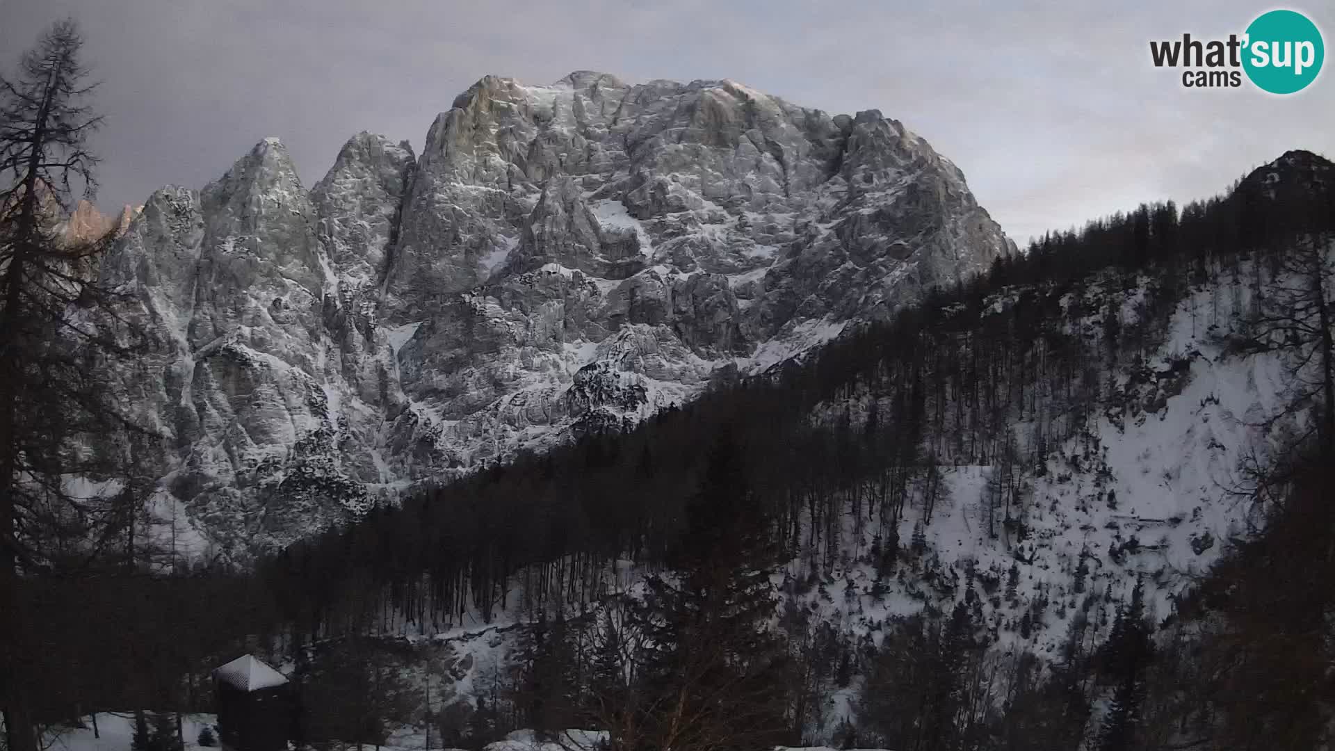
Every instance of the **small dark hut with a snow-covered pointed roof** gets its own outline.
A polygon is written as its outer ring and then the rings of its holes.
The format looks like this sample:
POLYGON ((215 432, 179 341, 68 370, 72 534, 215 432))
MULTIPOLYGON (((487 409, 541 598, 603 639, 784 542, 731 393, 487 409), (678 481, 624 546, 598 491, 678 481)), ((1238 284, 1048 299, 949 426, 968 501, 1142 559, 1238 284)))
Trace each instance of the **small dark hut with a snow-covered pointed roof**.
POLYGON ((287 676, 251 655, 214 669, 219 742, 227 751, 287 751, 295 698, 287 676))

